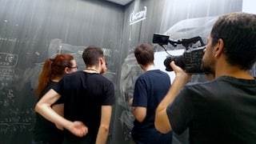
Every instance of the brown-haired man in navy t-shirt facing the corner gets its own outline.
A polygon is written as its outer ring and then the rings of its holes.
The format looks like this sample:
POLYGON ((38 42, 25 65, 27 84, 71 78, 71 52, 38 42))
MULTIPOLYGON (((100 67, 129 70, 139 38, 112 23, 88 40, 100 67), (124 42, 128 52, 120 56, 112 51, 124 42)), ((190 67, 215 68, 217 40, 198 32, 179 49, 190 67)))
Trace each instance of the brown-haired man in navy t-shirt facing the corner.
POLYGON ((134 55, 145 73, 134 86, 132 138, 136 143, 171 143, 171 132, 160 134, 154 127, 155 110, 170 88, 170 77, 154 68, 154 50, 149 44, 137 46, 134 55))

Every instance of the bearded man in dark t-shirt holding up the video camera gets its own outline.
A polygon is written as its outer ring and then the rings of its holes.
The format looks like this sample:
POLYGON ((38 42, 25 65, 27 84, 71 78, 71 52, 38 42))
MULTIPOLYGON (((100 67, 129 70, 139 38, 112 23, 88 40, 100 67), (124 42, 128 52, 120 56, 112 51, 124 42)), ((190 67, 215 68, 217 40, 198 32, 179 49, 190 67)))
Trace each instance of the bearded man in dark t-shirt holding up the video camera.
POLYGON ((174 62, 176 77, 156 110, 162 133, 190 130, 190 143, 256 143, 256 15, 224 14, 215 22, 202 58, 209 82, 186 85, 191 75, 174 62), (186 85, 186 86, 185 86, 186 85))

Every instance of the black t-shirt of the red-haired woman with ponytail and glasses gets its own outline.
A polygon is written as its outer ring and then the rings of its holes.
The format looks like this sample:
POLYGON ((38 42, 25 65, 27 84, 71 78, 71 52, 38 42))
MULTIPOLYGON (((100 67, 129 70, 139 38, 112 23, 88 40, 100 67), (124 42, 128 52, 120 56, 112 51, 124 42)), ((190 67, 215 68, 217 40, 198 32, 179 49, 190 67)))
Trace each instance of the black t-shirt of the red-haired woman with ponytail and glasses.
MULTIPOLYGON (((43 91, 42 95, 46 94, 50 89, 57 90, 58 82, 50 82, 46 89, 43 91)), ((38 99, 39 101, 40 99, 38 99)), ((57 104, 55 102, 54 104, 57 104)), ((58 130, 53 122, 48 121, 46 118, 43 118, 42 115, 36 113, 36 121, 34 124, 34 141, 35 142, 47 142, 50 144, 62 143, 64 138, 64 132, 58 130)))

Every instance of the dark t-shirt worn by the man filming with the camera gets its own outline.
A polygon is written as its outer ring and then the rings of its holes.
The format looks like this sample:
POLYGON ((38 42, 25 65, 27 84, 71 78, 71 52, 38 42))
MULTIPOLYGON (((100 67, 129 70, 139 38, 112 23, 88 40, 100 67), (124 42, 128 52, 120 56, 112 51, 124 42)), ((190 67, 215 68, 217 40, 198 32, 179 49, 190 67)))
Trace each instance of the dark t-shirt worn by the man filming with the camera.
POLYGON ((256 143, 256 80, 227 76, 185 86, 166 110, 190 143, 256 143))

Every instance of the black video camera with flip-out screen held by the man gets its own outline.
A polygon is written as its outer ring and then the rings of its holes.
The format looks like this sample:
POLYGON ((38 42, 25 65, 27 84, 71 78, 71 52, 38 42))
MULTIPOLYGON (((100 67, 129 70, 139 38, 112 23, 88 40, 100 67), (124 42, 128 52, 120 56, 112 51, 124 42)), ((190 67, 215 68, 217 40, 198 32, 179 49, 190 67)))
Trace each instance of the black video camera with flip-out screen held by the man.
MULTIPOLYGON (((166 53, 169 56, 165 59, 164 65, 166 66, 166 71, 172 71, 173 69, 170 66, 170 62, 174 61, 177 66, 180 66, 182 70, 185 70, 186 73, 190 74, 203 74, 201 65, 202 65, 202 56, 203 50, 205 49, 205 44, 202 41, 201 37, 194 37, 189 39, 182 39, 178 41, 173 41, 169 39, 168 35, 163 34, 154 34, 153 43, 157 43, 158 45, 168 45, 170 43, 172 46, 177 46, 181 44, 185 46, 186 50, 182 55, 174 56, 170 55, 167 51, 166 53), (193 47, 193 45, 197 42, 201 43, 199 47, 193 47)), ((166 48, 162 46, 164 50, 166 48)))

